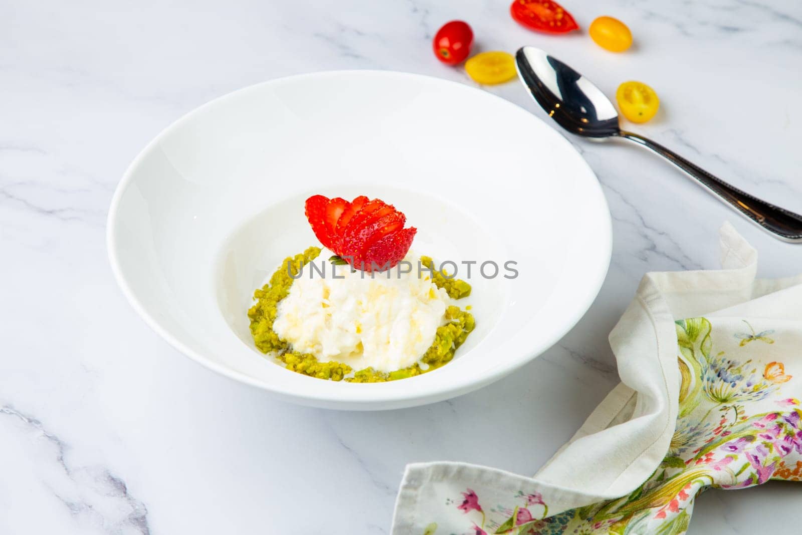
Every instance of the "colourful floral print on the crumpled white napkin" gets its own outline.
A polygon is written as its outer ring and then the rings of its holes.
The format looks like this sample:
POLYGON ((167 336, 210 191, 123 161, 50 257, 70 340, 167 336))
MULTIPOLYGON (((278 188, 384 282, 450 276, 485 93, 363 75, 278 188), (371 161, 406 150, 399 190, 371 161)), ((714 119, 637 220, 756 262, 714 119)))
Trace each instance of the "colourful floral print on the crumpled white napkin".
MULTIPOLYGON (((771 359, 768 347, 781 342, 774 329, 715 321, 720 323, 715 333, 707 318, 676 322, 678 420, 665 459, 634 492, 549 517, 548 496, 540 492, 486 503, 480 492, 466 488, 444 500, 444 507, 464 514, 464 529, 457 533, 680 535, 687 531, 695 497, 706 488, 802 480, 802 407, 784 391, 802 370, 771 359)), ((432 520, 425 535, 454 533, 440 533, 432 520)))

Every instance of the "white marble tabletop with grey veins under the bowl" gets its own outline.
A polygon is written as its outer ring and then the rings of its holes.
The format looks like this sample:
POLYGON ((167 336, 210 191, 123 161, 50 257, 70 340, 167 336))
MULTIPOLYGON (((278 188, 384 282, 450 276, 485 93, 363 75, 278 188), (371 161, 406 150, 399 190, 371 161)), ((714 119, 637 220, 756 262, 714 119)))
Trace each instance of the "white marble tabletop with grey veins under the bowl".
MULTIPOLYGON (((606 342, 648 270, 714 268, 725 219, 760 274, 802 272, 774 241, 641 149, 571 142, 602 181, 614 252, 601 294, 555 347, 470 395, 384 413, 267 398, 172 350, 107 265, 120 176, 162 128, 239 87, 296 73, 411 71, 471 83, 431 37, 470 22, 481 50, 543 47, 607 94, 662 100, 637 131, 802 212, 802 4, 575 0, 630 24, 633 51, 516 26, 508 2, 0 3, 0 533, 387 533, 403 466, 465 460, 533 473, 617 382, 606 342), (560 407, 554 410, 554 407, 560 407)), ((488 87, 537 116, 518 83, 488 87)), ((488 124, 487 128, 492 128, 488 124)), ((795 484, 700 497, 691 534, 791 521, 795 484)))

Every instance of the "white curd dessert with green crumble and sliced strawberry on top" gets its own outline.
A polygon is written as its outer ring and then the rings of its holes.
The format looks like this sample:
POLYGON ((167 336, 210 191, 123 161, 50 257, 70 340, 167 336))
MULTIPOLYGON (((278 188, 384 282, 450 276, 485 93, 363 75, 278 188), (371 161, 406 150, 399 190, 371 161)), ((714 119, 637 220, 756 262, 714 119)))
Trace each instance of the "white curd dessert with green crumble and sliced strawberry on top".
POLYGON ((310 197, 306 215, 325 249, 288 257, 254 293, 256 347, 290 371, 356 383, 448 363, 474 328, 454 304, 471 286, 409 251, 416 229, 391 205, 321 197, 310 197))

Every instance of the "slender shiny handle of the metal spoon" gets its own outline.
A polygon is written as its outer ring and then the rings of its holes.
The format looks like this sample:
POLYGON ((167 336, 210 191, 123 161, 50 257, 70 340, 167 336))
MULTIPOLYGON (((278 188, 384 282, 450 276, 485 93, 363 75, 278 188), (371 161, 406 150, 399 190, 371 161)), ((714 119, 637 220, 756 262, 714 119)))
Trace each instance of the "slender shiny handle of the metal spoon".
POLYGON ((660 156, 686 172, 688 176, 698 180, 700 184, 711 193, 715 193, 721 201, 730 205, 738 213, 747 217, 762 229, 772 233, 774 237, 782 241, 802 243, 802 216, 799 214, 771 205, 766 201, 761 201, 757 197, 752 197, 749 193, 732 187, 703 168, 692 164, 676 152, 670 151, 661 144, 654 143, 654 141, 648 140, 643 136, 623 130, 619 136, 657 152, 660 156))

